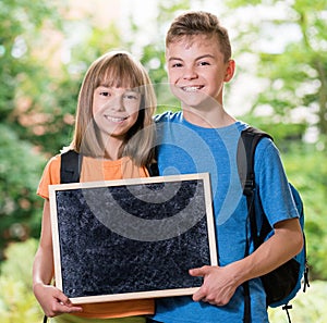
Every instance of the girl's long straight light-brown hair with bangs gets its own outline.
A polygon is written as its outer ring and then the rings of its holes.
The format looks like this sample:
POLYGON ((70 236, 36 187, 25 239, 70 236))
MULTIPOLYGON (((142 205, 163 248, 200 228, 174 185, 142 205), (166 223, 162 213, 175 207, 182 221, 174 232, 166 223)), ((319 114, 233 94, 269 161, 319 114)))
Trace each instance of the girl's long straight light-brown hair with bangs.
POLYGON ((125 87, 141 94, 138 117, 125 135, 121 156, 129 156, 138 166, 148 164, 153 160, 155 141, 153 115, 156 96, 143 65, 125 51, 104 54, 86 72, 80 90, 75 131, 70 149, 95 158, 105 156, 105 142, 93 116, 93 96, 100 85, 125 87))

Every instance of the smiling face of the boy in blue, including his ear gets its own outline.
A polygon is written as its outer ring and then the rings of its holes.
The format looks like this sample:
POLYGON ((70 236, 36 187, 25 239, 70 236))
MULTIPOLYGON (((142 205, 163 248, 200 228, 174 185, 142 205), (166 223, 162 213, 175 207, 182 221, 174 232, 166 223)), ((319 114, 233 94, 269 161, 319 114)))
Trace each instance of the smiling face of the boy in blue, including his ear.
POLYGON ((223 83, 233 75, 233 61, 223 61, 217 40, 204 35, 183 37, 166 52, 171 90, 182 108, 222 102, 223 83))

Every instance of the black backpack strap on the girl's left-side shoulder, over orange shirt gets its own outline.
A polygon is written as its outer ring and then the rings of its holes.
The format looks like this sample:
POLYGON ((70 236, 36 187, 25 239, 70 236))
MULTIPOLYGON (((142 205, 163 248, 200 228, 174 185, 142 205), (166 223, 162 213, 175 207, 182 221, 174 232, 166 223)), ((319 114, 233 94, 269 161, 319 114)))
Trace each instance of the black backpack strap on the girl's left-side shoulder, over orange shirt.
POLYGON ((74 150, 61 154, 60 183, 78 183, 82 157, 74 150))

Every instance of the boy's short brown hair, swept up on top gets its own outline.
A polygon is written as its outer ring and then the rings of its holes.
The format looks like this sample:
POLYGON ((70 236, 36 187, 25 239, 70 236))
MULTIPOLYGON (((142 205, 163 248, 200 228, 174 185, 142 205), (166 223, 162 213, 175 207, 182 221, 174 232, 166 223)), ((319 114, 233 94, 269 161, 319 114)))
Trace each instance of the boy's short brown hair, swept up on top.
POLYGON ((187 12, 175 17, 166 36, 166 48, 183 37, 192 38, 196 35, 216 37, 225 62, 231 59, 231 46, 227 29, 220 25, 216 15, 204 11, 187 12))

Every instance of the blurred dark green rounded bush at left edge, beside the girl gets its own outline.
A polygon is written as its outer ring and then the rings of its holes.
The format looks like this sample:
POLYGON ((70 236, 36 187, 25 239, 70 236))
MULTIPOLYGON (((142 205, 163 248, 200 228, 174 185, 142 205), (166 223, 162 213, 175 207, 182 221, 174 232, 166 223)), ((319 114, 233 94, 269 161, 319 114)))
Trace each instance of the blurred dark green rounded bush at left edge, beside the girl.
POLYGON ((0 124, 0 260, 10 240, 38 236, 40 199, 36 185, 44 159, 34 147, 20 140, 5 124, 0 124))

